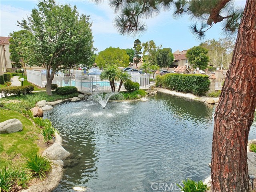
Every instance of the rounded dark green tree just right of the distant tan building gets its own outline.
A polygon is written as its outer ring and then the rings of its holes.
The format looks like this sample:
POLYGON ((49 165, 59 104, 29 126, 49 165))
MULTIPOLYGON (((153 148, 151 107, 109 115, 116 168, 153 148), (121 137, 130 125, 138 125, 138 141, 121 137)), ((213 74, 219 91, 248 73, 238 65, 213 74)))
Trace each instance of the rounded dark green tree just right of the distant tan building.
POLYGON ((188 62, 194 68, 206 69, 209 62, 208 50, 201 46, 194 46, 186 52, 188 62))

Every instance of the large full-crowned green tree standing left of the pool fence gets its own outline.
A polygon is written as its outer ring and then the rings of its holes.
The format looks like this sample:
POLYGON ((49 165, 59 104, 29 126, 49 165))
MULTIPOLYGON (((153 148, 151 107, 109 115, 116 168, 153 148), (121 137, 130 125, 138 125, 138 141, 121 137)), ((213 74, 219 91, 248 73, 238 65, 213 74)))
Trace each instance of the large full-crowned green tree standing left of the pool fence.
POLYGON ((38 2, 28 22, 18 22, 24 30, 32 32, 27 39, 28 65, 46 68, 46 93, 52 95, 51 84, 55 72, 78 64, 87 65, 94 51, 89 16, 79 13, 76 6, 59 5, 54 0, 38 2))

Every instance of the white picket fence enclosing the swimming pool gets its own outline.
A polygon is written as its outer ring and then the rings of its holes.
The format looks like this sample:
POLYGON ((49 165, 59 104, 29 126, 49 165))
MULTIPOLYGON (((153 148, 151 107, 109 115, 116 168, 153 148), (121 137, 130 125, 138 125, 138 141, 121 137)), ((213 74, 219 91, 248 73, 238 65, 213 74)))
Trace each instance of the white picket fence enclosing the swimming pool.
MULTIPOLYGON (((46 72, 26 70, 28 82, 35 84, 41 88, 46 85, 46 72)), ((75 86, 80 92, 111 92, 111 86, 109 80, 102 80, 100 75, 82 75, 81 70, 74 70, 73 74, 63 74, 58 72, 54 75, 52 84, 57 84, 58 87, 63 86, 75 86)), ((149 85, 149 75, 134 73, 131 74, 131 80, 138 82, 140 88, 147 88, 149 85)), ((115 90, 117 91, 120 85, 120 81, 115 81, 115 90)), ((122 84, 120 90, 125 90, 124 84, 122 84)))

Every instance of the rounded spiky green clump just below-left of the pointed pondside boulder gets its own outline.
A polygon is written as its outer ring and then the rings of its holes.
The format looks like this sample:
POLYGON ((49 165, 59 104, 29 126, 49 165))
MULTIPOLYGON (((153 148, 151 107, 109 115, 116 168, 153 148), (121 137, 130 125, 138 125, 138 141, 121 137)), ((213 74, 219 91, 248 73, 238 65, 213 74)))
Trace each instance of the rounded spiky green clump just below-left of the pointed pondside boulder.
POLYGON ((41 155, 34 155, 27 160, 26 168, 32 171, 32 174, 39 176, 40 180, 51 170, 51 162, 48 158, 41 155))

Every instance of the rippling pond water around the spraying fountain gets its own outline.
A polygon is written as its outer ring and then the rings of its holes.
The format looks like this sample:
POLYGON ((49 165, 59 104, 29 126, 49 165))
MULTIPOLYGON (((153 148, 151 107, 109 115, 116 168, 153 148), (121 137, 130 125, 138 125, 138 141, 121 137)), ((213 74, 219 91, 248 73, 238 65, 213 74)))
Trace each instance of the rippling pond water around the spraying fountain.
MULTIPOLYGON (((168 191, 186 178, 210 176, 215 106, 158 93, 148 102, 67 102, 44 113, 78 165, 64 170, 54 192, 168 191), (171 187, 172 186, 172 187, 171 187), (161 190, 162 191, 162 190, 161 190)), ((256 138, 256 118, 249 139, 256 138)))

